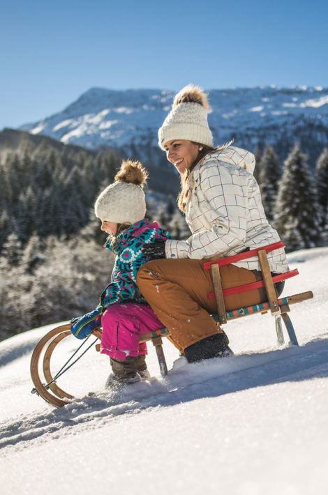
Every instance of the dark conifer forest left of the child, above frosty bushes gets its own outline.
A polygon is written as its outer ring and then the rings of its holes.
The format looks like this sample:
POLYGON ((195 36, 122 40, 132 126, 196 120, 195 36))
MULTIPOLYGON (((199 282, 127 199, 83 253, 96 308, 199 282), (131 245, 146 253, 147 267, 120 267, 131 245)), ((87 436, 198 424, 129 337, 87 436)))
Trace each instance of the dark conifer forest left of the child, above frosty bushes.
POLYGON ((90 205, 110 183, 121 159, 99 153, 54 149, 23 139, 0 153, 0 251, 10 234, 24 248, 33 235, 74 234, 89 222, 90 205))

